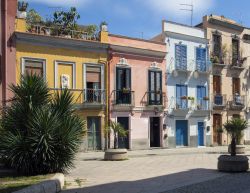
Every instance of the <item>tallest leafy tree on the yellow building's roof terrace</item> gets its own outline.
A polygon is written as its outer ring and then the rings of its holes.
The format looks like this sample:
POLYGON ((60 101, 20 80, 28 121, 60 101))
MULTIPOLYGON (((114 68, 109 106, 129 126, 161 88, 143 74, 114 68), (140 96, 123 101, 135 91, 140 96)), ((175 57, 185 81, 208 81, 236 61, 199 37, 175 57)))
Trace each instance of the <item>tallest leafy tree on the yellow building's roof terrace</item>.
POLYGON ((77 30, 77 20, 80 18, 75 7, 71 7, 70 11, 60 11, 54 13, 54 24, 59 26, 59 33, 69 35, 71 30, 77 30))

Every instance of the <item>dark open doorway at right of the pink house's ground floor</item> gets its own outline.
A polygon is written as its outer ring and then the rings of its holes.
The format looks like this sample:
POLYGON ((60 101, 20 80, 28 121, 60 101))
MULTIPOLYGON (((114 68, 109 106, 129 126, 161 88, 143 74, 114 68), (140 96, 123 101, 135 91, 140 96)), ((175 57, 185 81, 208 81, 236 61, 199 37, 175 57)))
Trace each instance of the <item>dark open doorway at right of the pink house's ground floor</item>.
POLYGON ((160 147, 160 117, 150 117, 150 147, 160 147))

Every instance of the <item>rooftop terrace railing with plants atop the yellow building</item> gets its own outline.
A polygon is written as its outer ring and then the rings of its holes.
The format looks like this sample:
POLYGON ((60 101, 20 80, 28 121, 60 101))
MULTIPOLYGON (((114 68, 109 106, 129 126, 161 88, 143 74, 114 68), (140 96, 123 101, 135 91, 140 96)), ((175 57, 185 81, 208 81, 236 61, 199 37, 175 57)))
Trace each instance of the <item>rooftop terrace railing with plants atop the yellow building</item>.
POLYGON ((63 38, 98 41, 98 37, 96 35, 90 35, 87 32, 82 31, 82 30, 79 30, 79 31, 70 30, 60 25, 47 27, 43 25, 30 24, 30 27, 27 30, 27 32, 33 33, 33 34, 39 34, 39 35, 46 35, 46 36, 57 36, 57 37, 63 37, 63 38))

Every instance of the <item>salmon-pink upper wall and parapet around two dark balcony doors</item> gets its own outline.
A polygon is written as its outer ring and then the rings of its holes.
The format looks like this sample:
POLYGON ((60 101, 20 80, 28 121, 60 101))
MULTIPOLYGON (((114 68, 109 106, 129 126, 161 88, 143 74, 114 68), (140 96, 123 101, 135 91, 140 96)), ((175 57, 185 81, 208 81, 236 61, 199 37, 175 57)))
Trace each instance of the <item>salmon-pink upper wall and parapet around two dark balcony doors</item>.
MULTIPOLYGON (((165 44, 139 39, 109 36, 109 43, 114 45, 122 45, 166 52, 165 44)), ((162 91, 166 93, 166 61, 164 57, 148 57, 144 55, 137 55, 136 53, 133 55, 127 53, 115 53, 115 50, 111 51, 110 55, 110 92, 115 90, 116 64, 119 62, 120 58, 125 58, 127 59, 127 62, 131 67, 131 90, 135 91, 135 106, 143 106, 141 102, 143 100, 143 97, 145 97, 145 93, 148 90, 148 70, 153 62, 157 62, 158 67, 162 70, 162 91)))

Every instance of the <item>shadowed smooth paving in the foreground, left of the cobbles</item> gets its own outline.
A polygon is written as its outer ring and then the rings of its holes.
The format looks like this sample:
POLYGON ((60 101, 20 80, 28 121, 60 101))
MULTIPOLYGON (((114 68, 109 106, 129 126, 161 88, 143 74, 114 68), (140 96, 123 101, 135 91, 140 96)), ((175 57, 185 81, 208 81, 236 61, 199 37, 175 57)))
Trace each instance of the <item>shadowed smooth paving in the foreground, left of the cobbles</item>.
POLYGON ((168 190, 208 181, 225 175, 227 174, 219 173, 217 170, 198 168, 136 181, 129 181, 128 179, 128 181, 63 190, 62 193, 163 193, 168 190))

